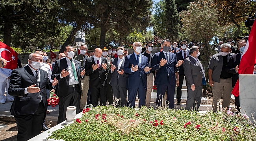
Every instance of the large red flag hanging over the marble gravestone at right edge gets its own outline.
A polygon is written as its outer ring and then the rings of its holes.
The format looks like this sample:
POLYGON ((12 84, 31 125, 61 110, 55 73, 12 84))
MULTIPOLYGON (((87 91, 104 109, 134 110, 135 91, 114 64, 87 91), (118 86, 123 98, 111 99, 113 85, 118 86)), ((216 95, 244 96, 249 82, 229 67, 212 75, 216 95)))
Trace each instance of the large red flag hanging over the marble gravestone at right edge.
MULTIPOLYGON (((254 64, 256 64, 256 22, 252 25, 252 30, 245 46, 245 51, 241 58, 238 74, 253 74, 254 64)), ((239 80, 237 80, 234 89, 234 96, 239 96, 239 80)))

